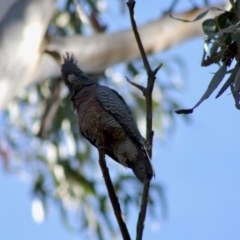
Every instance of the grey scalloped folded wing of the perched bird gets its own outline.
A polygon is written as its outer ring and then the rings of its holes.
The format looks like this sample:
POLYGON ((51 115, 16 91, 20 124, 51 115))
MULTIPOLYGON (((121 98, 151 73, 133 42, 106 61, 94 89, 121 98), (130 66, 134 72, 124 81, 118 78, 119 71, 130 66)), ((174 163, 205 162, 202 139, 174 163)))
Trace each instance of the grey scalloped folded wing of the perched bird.
POLYGON ((144 138, 141 136, 132 112, 124 99, 115 90, 99 85, 97 100, 119 122, 130 138, 141 148, 144 148, 144 138))

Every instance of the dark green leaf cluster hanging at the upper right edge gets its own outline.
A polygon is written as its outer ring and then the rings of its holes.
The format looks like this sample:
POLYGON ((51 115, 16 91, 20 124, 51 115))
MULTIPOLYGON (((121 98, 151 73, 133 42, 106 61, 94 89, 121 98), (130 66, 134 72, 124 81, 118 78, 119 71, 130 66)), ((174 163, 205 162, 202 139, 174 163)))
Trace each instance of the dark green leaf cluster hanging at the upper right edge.
POLYGON ((213 75, 206 91, 194 107, 176 111, 179 114, 192 113, 196 107, 210 97, 226 75, 228 77, 218 91, 216 98, 220 97, 227 89, 230 89, 235 106, 240 109, 240 1, 230 0, 230 3, 231 9, 229 11, 211 8, 196 18, 196 20, 201 19, 210 10, 221 11, 215 18, 207 19, 202 23, 206 37, 201 65, 206 67, 217 64, 219 69, 213 75), (233 62, 234 66, 232 66, 233 62))

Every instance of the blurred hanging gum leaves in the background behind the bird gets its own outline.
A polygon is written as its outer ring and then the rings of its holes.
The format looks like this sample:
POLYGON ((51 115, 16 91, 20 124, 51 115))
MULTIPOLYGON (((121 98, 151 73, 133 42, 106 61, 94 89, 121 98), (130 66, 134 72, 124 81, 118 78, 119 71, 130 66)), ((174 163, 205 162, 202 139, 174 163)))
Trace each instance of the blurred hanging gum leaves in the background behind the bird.
MULTIPOLYGON (((207 1, 203 2, 208 4, 207 1)), ((107 2, 104 0, 61 0, 49 23, 46 38, 105 33, 110 24, 110 19, 103 17, 106 8, 107 2)), ((119 11, 128 14, 124 9, 125 1, 119 1, 119 11)), ((238 16, 233 11, 229 15, 220 15, 224 21, 210 19, 203 23, 203 30, 208 36, 205 46, 211 52, 210 57, 204 57, 203 65, 208 65, 209 61, 220 63, 226 58, 229 45, 237 41, 238 16), (231 34, 226 31, 229 26, 234 26, 231 34), (220 55, 219 52, 221 57, 214 58, 213 56, 220 55)), ((187 73, 180 56, 172 56, 165 61, 159 54, 155 54, 149 56, 149 60, 153 69, 163 62, 161 77, 157 78, 153 92, 155 147, 175 129, 174 111, 181 106, 174 98, 174 92, 182 88, 182 79, 187 73)), ((127 83, 125 76, 138 84, 146 84, 142 61, 118 64, 92 77, 101 84, 116 89, 124 97, 144 136, 144 98, 138 89, 127 83)), ((228 86, 234 86, 234 81, 228 86)), ((47 214, 49 202, 53 201, 68 228, 96 234, 99 239, 118 236, 119 231, 98 165, 97 151, 79 134, 77 117, 61 79, 46 79, 21 90, 7 109, 0 113, 0 122, 0 159, 3 167, 32 182, 33 201, 40 204, 42 218, 47 214)), ((157 159, 153 159, 153 165, 155 160, 157 159)), ((133 210, 138 211, 141 183, 130 170, 108 158, 107 164, 124 215, 128 216, 133 210)), ((33 209, 35 220, 41 221, 34 211, 33 209)), ((167 212, 164 188, 154 179, 149 212, 158 220, 164 219, 167 212), (161 216, 156 215, 159 212, 161 216)))

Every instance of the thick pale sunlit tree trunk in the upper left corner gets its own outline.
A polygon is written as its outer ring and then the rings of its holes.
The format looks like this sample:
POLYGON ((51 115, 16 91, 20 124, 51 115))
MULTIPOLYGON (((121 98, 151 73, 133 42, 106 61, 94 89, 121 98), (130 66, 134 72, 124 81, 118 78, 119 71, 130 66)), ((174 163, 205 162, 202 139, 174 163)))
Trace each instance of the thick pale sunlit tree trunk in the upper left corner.
POLYGON ((0 109, 32 81, 56 0, 0 1, 0 109))

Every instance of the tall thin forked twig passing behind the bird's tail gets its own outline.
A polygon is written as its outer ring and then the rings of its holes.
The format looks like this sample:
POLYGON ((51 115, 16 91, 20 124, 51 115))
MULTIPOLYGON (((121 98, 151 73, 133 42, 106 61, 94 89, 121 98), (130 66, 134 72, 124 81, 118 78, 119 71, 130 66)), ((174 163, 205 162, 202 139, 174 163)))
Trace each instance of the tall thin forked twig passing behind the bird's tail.
MULTIPOLYGON (((134 0, 129 0, 127 2, 127 6, 129 9, 129 15, 131 19, 131 24, 132 24, 132 29, 133 33, 139 48, 139 51, 141 53, 142 61, 144 64, 144 67, 146 69, 147 75, 148 75, 148 82, 147 82, 147 87, 139 87, 139 85, 136 85, 132 82, 130 82, 132 85, 135 87, 139 88, 140 90, 144 88, 144 96, 146 99, 146 138, 148 143, 150 144, 150 148, 148 149, 148 154, 149 157, 152 157, 152 145, 153 145, 153 129, 152 129, 152 91, 156 79, 156 74, 158 70, 162 67, 162 64, 159 64, 157 68, 153 71, 150 67, 150 64, 147 59, 146 52, 144 50, 141 38, 139 36, 138 30, 137 30, 137 25, 134 19, 134 6, 135 6, 135 1, 134 0)), ((137 240, 142 240, 142 235, 143 235, 143 229, 144 229, 144 221, 146 218, 146 212, 147 212, 147 206, 148 206, 148 192, 150 188, 150 181, 147 180, 144 183, 144 188, 143 188, 143 195, 142 195, 142 200, 141 200, 141 210, 139 212, 138 216, 138 222, 137 222, 137 240)))

